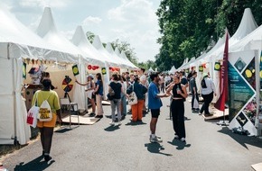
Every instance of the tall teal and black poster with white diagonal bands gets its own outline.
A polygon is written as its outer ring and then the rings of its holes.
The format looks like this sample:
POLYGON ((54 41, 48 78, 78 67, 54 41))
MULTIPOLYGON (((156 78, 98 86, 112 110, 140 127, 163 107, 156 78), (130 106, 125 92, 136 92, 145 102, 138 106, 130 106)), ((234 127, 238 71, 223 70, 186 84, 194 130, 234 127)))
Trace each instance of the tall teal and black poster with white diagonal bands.
POLYGON ((229 53, 229 128, 250 135, 257 135, 256 61, 254 50, 229 53))

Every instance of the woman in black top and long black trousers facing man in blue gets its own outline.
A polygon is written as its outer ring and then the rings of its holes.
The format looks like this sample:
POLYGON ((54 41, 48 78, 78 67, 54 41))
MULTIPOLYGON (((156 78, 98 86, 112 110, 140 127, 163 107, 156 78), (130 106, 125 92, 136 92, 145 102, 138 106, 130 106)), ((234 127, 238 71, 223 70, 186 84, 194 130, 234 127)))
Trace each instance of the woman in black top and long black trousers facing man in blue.
POLYGON ((171 85, 167 94, 173 94, 171 103, 171 111, 173 118, 174 138, 185 142, 185 127, 184 127, 184 101, 187 98, 187 92, 184 85, 180 83, 180 76, 173 76, 173 85, 171 85))

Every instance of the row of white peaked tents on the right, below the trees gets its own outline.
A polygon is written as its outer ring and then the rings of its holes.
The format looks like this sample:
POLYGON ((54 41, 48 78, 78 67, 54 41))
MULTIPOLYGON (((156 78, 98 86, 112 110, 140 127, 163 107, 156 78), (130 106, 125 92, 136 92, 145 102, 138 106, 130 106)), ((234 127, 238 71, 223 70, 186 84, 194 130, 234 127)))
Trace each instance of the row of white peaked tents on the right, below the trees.
MULTIPOLYGON (((220 38, 216 45, 208 52, 201 54, 198 58, 191 58, 190 61, 186 58, 181 67, 177 70, 191 69, 198 71, 200 66, 204 66, 203 72, 209 72, 216 86, 216 93, 220 94, 220 76, 219 72, 214 70, 216 62, 222 61, 224 46, 226 41, 226 34, 220 38)), ((257 27, 257 23, 249 8, 245 9, 244 14, 239 24, 238 30, 232 37, 229 38, 229 53, 243 50, 262 49, 262 25, 257 27)), ((260 54, 259 54, 260 55, 260 54)), ((257 57, 259 58, 259 57, 257 57)), ((200 86, 201 72, 198 72, 196 79, 197 85, 200 86)), ((217 101, 219 95, 214 98, 217 101)))

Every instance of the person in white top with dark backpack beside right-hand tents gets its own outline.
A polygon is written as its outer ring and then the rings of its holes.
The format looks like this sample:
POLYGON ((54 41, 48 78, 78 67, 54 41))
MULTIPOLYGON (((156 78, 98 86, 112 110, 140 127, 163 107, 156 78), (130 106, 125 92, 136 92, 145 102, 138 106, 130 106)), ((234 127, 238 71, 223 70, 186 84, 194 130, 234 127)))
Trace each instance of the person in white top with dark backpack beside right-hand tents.
POLYGON ((201 80, 201 95, 204 99, 204 103, 201 106, 200 114, 202 114, 202 112, 205 112, 205 116, 212 115, 209 111, 209 107, 210 103, 213 100, 213 94, 215 94, 215 96, 217 95, 215 93, 214 82, 207 73, 203 73, 203 78, 201 80))

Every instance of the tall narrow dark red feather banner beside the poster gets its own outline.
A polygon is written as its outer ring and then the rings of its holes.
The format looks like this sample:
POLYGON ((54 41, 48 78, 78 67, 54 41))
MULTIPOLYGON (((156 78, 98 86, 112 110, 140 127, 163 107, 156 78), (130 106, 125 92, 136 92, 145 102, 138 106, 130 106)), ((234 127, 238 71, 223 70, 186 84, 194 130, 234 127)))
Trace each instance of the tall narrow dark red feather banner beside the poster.
POLYGON ((223 64, 221 67, 221 75, 220 75, 220 98, 215 103, 215 108, 220 111, 225 111, 225 103, 228 101, 228 62, 229 62, 229 32, 226 31, 226 42, 225 42, 225 49, 223 55, 223 64))

